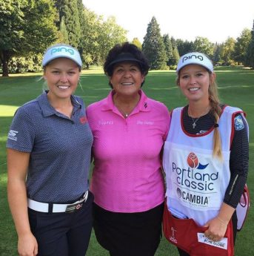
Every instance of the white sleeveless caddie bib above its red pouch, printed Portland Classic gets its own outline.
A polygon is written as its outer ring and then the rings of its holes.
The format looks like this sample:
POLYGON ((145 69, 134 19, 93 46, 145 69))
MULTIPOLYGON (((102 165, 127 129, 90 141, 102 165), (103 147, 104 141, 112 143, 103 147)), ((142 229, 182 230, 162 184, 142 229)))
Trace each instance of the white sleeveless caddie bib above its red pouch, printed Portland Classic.
POLYGON ((193 218, 204 226, 217 216, 230 182, 230 144, 233 116, 239 108, 224 108, 218 122, 223 160, 213 157, 213 128, 204 134, 187 134, 181 124, 183 108, 173 111, 164 143, 167 206, 178 218, 193 218))

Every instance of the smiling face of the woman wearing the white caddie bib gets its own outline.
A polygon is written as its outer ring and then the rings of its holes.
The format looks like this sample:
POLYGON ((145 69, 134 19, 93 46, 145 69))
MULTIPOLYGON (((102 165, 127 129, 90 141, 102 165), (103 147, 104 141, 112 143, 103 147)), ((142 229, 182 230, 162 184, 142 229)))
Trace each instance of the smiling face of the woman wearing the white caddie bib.
POLYGON ((214 73, 209 73, 201 65, 187 65, 179 72, 178 85, 189 102, 207 102, 209 100, 208 88, 214 73))

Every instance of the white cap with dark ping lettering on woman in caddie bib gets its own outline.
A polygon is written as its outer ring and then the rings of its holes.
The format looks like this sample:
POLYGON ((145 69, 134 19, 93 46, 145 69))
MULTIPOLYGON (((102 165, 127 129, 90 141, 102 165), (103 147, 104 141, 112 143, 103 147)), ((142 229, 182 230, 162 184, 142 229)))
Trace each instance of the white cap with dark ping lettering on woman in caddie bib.
POLYGON ((178 73, 181 68, 184 68, 186 65, 190 64, 201 65, 210 70, 210 72, 213 72, 213 63, 210 61, 210 59, 204 53, 198 52, 187 53, 181 56, 178 61, 176 72, 178 73))

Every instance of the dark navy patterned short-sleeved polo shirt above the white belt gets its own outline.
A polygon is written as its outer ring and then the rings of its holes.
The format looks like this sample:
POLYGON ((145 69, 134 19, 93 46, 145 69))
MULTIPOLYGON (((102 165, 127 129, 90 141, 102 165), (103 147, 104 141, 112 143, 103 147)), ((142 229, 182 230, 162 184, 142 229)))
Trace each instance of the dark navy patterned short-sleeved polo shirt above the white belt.
POLYGON ((47 92, 21 106, 13 117, 7 148, 30 152, 30 199, 68 203, 87 191, 93 135, 82 99, 71 96, 71 101, 71 118, 50 105, 47 92))

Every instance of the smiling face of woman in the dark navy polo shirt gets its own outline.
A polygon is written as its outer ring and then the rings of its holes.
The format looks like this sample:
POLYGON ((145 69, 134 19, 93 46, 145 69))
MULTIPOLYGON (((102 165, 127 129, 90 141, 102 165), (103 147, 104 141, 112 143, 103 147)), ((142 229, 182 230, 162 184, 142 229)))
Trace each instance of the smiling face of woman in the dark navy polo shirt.
POLYGON ((54 59, 46 66, 44 79, 49 88, 47 96, 51 100, 70 98, 78 85, 78 65, 71 59, 54 59))

